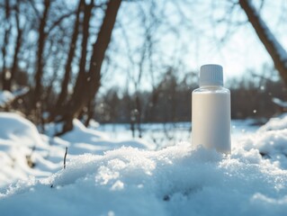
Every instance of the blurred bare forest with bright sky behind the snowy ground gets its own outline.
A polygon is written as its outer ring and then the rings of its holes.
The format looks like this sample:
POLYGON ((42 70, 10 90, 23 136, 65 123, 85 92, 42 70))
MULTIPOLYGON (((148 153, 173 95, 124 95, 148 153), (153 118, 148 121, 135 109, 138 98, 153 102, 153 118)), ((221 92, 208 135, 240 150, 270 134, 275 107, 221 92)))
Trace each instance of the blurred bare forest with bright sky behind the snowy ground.
POLYGON ((38 125, 191 121, 201 64, 220 63, 233 119, 287 100, 285 1, 0 1, 1 110, 38 125))

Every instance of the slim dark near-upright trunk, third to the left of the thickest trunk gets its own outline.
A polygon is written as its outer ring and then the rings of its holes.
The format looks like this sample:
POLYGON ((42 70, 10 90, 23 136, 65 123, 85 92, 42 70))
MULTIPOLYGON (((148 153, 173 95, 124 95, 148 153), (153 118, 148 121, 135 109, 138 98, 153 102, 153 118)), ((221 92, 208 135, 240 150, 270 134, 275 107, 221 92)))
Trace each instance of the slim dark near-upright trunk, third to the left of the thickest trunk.
POLYGON ((40 102, 40 96, 43 91, 43 87, 41 84, 42 76, 43 76, 43 52, 44 52, 44 46, 45 46, 45 41, 47 38, 47 32, 45 31, 45 27, 47 24, 47 18, 48 18, 48 13, 49 13, 49 6, 50 6, 50 1, 45 0, 44 2, 44 12, 42 17, 40 18, 40 26, 39 26, 39 39, 38 39, 38 51, 37 51, 37 71, 35 74, 35 88, 33 91, 33 100, 31 103, 31 109, 36 108, 36 104, 40 102))

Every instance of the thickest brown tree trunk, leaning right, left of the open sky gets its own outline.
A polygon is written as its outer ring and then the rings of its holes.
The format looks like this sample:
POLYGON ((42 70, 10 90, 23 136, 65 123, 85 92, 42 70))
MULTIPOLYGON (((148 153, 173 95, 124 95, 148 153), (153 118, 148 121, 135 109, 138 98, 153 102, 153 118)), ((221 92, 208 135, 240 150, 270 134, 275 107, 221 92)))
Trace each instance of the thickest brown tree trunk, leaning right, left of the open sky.
POLYGON ((106 49, 112 37, 112 29, 121 5, 121 0, 110 0, 103 18, 103 23, 93 45, 93 54, 90 60, 90 67, 87 77, 83 80, 81 88, 75 92, 68 103, 67 113, 64 117, 64 127, 62 133, 73 129, 73 118, 75 118, 82 108, 94 98, 100 87, 101 68, 106 49))

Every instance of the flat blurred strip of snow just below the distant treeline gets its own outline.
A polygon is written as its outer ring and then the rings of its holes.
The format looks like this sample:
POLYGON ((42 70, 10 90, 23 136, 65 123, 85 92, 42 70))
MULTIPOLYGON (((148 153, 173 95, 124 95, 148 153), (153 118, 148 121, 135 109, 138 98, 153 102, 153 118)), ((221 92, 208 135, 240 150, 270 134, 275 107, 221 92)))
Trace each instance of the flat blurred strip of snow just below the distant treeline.
MULTIPOLYGON (((253 133, 258 129, 254 120, 236 120, 231 122, 232 142, 237 143, 238 139, 253 133)), ((103 131, 112 139, 132 139, 130 124, 106 123, 95 125, 93 128, 103 131)), ((167 146, 175 146, 178 142, 191 140, 191 122, 175 123, 143 123, 141 124, 142 137, 149 143, 155 143, 157 149, 167 146)), ((139 131, 135 130, 135 136, 139 131)))

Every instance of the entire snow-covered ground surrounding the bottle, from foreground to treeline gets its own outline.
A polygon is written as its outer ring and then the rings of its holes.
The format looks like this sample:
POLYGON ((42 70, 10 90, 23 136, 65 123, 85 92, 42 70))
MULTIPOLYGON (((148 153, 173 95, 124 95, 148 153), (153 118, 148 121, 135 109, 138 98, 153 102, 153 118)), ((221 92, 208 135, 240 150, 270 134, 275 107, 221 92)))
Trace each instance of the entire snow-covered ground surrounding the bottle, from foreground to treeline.
POLYGON ((1 215, 286 215, 287 115, 234 123, 229 156, 74 125, 53 138, 0 113, 1 215))

